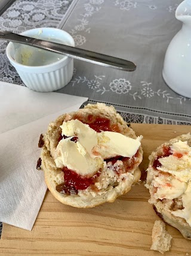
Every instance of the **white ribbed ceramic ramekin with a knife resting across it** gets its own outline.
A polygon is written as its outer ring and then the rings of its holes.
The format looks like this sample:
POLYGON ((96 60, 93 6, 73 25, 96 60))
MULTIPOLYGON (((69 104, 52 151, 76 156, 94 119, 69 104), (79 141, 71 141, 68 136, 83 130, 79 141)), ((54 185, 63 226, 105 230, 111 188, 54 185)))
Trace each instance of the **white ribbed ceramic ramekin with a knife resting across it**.
MULTIPOLYGON (((61 29, 36 28, 21 35, 75 46, 72 36, 61 29)), ((73 59, 67 56, 12 42, 6 53, 23 83, 33 91, 56 91, 72 79, 73 59)))

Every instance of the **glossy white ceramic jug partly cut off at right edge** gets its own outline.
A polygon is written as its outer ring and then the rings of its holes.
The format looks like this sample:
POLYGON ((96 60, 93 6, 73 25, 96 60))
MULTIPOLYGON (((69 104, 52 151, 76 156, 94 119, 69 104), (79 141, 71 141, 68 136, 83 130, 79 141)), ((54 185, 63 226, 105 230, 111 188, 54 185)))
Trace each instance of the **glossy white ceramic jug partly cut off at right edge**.
POLYGON ((191 0, 178 5, 175 17, 183 26, 168 46, 162 76, 173 91, 191 98, 191 0))

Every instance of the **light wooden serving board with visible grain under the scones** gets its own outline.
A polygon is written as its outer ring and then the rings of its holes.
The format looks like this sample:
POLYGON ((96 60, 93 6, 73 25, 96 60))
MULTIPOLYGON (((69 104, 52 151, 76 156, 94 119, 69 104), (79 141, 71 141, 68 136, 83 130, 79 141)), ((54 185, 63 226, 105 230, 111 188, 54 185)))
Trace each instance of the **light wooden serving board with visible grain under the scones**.
MULTIPOLYGON (((137 135, 143 135, 146 170, 148 156, 164 141, 191 131, 184 125, 132 124, 137 135)), ((150 251, 152 228, 156 216, 148 203, 149 191, 143 183, 114 203, 93 209, 76 209, 58 202, 50 192, 45 195, 32 231, 3 224, 1 255, 161 255, 150 251)), ((191 240, 186 240, 170 225, 170 252, 165 255, 191 255, 191 240)))

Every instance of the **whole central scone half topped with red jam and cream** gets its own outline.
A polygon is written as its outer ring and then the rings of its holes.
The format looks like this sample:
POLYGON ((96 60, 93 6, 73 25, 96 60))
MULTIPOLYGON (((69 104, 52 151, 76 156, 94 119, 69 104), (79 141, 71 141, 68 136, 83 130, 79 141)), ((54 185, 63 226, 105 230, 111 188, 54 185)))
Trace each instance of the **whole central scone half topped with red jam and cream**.
POLYGON ((140 141, 112 106, 88 104, 50 123, 39 140, 38 168, 61 203, 85 208, 113 202, 140 179, 140 141))

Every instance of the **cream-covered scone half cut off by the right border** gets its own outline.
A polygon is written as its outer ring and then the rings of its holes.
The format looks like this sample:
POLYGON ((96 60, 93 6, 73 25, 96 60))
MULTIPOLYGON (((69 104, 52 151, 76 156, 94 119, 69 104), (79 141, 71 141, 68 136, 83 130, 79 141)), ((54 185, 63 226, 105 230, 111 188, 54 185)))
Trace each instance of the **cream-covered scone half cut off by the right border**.
POLYGON ((149 156, 146 188, 158 216, 191 239, 191 135, 164 143, 149 156))

